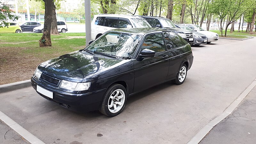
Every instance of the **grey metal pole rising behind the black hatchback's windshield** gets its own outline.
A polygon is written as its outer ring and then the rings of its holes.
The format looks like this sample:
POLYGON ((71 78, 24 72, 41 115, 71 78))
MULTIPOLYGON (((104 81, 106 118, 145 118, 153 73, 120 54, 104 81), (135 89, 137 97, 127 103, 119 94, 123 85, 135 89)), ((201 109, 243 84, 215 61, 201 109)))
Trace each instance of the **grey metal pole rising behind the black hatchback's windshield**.
POLYGON ((92 40, 92 27, 91 27, 91 0, 84 0, 84 12, 85 12, 85 38, 86 44, 89 45, 89 41, 92 40))

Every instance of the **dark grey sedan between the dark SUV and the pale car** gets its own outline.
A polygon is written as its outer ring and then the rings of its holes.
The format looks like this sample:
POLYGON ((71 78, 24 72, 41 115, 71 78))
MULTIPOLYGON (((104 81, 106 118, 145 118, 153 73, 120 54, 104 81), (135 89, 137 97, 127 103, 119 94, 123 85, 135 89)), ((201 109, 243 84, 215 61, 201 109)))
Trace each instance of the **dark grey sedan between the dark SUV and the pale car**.
POLYGON ((175 26, 177 28, 182 28, 182 29, 192 31, 194 34, 194 43, 193 44, 195 44, 195 45, 207 44, 207 37, 204 34, 201 34, 201 33, 197 32, 191 28, 188 28, 182 24, 175 24, 175 26))

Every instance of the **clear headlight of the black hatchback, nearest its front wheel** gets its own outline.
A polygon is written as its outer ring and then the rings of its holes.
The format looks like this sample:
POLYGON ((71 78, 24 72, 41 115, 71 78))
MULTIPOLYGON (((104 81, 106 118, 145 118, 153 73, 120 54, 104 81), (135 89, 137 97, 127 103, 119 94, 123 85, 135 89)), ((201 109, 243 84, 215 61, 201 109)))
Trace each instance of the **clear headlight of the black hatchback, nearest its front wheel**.
POLYGON ((73 91, 84 91, 84 90, 88 90, 90 86, 91 86, 91 82, 76 83, 76 82, 62 80, 59 87, 67 90, 73 90, 73 91))

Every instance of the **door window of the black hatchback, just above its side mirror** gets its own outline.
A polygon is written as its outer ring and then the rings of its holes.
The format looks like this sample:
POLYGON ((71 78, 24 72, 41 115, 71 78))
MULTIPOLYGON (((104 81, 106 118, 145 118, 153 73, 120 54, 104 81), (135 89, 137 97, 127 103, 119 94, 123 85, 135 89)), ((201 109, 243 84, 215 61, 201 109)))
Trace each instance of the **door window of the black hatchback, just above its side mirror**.
POLYGON ((164 52, 164 39, 162 34, 153 34, 147 36, 141 49, 150 49, 152 51, 157 52, 164 52))

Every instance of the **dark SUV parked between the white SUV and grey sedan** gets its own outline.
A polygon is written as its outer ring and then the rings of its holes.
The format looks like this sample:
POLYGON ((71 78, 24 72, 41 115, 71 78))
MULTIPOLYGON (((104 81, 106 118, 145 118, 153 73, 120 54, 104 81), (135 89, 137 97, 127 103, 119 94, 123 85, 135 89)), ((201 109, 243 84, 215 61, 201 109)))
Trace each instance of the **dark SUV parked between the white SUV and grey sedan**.
POLYGON ((151 27, 155 28, 167 28, 170 30, 174 30, 180 35, 184 40, 186 40, 190 45, 193 44, 194 38, 193 33, 189 30, 176 28, 176 26, 172 23, 171 20, 163 18, 163 17, 153 17, 153 16, 139 16, 148 21, 151 27))

